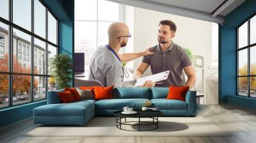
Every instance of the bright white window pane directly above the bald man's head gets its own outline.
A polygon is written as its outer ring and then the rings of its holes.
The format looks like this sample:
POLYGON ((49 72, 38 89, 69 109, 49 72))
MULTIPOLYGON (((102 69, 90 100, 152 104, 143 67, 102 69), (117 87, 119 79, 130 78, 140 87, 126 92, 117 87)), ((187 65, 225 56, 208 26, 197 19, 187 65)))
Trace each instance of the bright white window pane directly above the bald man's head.
POLYGON ((99 20, 118 21, 119 4, 99 0, 99 20))

